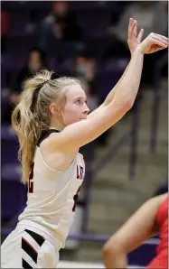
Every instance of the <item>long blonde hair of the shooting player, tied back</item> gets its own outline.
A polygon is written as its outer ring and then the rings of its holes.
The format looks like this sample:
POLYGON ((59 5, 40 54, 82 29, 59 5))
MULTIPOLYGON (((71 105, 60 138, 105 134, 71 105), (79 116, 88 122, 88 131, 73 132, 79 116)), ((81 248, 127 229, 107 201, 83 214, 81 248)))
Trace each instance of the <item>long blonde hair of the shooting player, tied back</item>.
MULTIPOLYGON (((47 131, 51 125, 50 104, 56 102, 61 112, 66 103, 67 87, 80 84, 77 79, 52 79, 52 76, 52 71, 42 70, 32 79, 27 79, 12 115, 12 125, 20 144, 18 157, 22 162, 24 184, 29 180, 36 144, 42 131, 47 131)), ((60 128, 61 119, 58 118, 57 124, 60 128)))

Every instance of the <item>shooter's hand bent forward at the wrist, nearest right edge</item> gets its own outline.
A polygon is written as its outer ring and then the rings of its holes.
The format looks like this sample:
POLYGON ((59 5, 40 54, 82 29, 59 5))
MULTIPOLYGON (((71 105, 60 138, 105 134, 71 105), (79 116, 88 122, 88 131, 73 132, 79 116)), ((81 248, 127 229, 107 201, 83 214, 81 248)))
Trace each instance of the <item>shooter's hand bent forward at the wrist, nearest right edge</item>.
POLYGON ((166 49, 168 42, 168 38, 164 35, 151 32, 146 39, 137 46, 136 50, 142 51, 144 54, 150 54, 166 49))

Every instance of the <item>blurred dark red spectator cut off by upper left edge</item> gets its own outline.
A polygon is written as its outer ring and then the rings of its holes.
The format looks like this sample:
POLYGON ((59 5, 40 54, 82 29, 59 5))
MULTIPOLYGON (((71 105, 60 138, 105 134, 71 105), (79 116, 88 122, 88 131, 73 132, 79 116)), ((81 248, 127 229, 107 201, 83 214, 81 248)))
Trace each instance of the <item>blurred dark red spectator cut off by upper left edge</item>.
POLYGON ((5 11, 1 11, 1 52, 5 51, 6 35, 9 30, 10 18, 9 14, 5 11))

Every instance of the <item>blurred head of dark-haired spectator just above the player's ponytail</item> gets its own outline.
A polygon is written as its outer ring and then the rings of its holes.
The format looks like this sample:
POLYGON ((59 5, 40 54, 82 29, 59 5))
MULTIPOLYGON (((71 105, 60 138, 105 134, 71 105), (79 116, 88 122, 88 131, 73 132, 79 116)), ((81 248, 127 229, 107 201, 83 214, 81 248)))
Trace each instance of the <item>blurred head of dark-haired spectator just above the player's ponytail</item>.
POLYGON ((46 66, 46 54, 40 49, 33 48, 29 52, 27 67, 33 72, 40 71, 46 66))

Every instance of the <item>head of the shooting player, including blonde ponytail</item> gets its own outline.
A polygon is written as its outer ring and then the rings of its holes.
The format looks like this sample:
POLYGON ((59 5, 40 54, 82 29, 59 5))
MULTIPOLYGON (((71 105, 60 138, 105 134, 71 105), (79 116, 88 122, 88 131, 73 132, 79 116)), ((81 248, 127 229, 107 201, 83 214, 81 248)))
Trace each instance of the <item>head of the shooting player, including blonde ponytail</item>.
POLYGON ((42 131, 50 127, 62 130, 85 120, 89 113, 86 102, 86 94, 77 79, 54 79, 52 72, 43 70, 25 81, 21 100, 12 116, 20 142, 23 182, 28 181, 30 163, 42 131))

